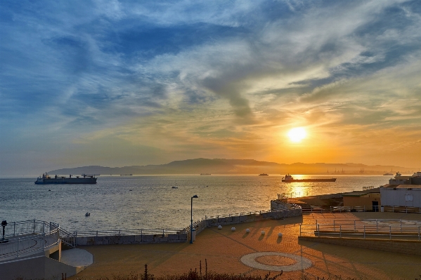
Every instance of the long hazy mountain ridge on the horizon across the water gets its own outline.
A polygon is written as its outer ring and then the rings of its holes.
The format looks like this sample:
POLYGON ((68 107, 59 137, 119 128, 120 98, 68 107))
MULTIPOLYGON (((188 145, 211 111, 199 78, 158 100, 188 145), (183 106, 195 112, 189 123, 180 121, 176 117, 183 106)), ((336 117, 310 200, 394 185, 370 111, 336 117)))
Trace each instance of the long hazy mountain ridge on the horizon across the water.
POLYGON ((255 161, 254 159, 187 159, 172 161, 169 164, 147 166, 84 166, 76 168, 63 168, 49 171, 51 175, 159 175, 159 174, 383 174, 390 171, 410 173, 417 168, 402 166, 367 166, 364 164, 277 164, 268 161, 255 161))

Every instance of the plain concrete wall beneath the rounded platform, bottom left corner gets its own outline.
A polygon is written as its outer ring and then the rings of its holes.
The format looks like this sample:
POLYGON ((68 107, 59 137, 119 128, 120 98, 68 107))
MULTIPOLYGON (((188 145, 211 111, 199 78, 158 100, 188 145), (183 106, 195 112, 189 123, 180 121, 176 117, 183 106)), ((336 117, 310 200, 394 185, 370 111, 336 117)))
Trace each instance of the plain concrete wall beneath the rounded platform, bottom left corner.
POLYGON ((17 277, 60 280, 62 279, 62 273, 69 277, 77 274, 79 270, 82 270, 82 268, 72 267, 41 255, 10 262, 0 262, 0 280, 14 280, 17 277))

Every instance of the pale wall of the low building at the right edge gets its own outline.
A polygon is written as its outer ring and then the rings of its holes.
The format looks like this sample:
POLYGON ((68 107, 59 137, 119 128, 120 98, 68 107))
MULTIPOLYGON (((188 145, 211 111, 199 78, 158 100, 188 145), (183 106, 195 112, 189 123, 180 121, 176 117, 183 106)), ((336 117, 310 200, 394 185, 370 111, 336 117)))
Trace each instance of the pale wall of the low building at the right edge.
POLYGON ((393 189, 390 187, 381 187, 380 194, 382 196, 382 206, 406 206, 421 207, 421 189, 408 188, 393 189), (406 194, 413 195, 413 201, 406 201, 406 194))

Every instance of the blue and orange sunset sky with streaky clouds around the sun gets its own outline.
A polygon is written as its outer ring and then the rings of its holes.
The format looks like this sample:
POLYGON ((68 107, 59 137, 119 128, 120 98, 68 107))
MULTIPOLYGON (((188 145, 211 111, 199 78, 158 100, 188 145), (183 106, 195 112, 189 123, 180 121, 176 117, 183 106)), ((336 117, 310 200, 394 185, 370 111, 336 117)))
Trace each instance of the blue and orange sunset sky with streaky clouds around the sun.
POLYGON ((421 167, 421 1, 4 0, 0 22, 0 175, 421 167))

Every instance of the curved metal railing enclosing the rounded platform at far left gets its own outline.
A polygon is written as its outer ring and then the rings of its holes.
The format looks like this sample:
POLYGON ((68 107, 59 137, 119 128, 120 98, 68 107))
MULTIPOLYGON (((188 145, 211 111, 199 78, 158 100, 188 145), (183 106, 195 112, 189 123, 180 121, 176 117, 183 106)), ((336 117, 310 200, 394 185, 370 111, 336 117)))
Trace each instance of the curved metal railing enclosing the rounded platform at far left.
POLYGON ((0 244, 0 262, 44 252, 60 241, 60 226, 55 223, 30 220, 13 222, 11 225, 13 229, 18 229, 19 234, 14 231, 13 235, 9 230, 9 234, 6 235, 8 226, 5 227, 5 237, 8 241, 0 244))

